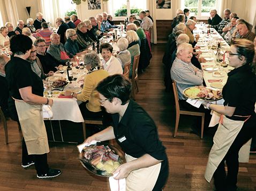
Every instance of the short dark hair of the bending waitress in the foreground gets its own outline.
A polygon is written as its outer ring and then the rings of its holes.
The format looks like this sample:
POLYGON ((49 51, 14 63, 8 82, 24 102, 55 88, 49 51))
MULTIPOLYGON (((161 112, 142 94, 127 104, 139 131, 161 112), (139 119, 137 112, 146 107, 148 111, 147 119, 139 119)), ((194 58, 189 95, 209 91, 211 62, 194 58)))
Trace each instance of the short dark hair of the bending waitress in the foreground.
POLYGON ((130 100, 132 84, 129 78, 121 74, 115 74, 103 79, 96 87, 96 90, 104 95, 110 102, 118 98, 125 105, 130 100))

